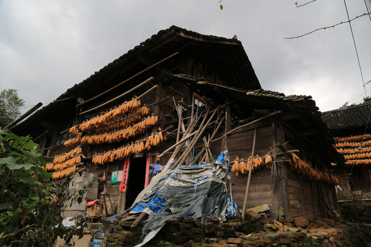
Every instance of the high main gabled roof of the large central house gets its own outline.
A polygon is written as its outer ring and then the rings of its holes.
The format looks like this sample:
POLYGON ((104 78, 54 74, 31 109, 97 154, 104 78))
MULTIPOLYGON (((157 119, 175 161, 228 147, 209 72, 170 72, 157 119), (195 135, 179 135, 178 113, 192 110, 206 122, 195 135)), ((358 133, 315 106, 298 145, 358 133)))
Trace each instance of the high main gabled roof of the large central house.
MULTIPOLYGON (((150 62, 144 62, 146 59, 143 61, 138 59, 139 57, 146 57, 148 61, 157 62, 175 52, 179 52, 179 55, 166 61, 170 64, 169 67, 177 67, 184 56, 193 56, 201 62, 207 61, 208 66, 221 75, 225 75, 223 80, 228 84, 245 89, 261 88, 251 62, 249 62, 239 40, 198 34, 181 27, 171 26, 127 51, 126 54, 110 62, 100 71, 93 73, 89 78, 75 84, 54 102, 37 110, 36 113, 15 126, 13 130, 27 132, 27 128, 38 126, 40 121, 58 124, 60 116, 73 117, 76 114, 76 99, 78 97, 89 99, 151 65, 148 65, 150 62), (60 114, 62 112, 63 114, 60 114)), ((161 65, 165 66, 164 64, 161 65)), ((151 72, 159 73, 155 70, 151 72)), ((119 95, 120 90, 115 93, 119 95)))

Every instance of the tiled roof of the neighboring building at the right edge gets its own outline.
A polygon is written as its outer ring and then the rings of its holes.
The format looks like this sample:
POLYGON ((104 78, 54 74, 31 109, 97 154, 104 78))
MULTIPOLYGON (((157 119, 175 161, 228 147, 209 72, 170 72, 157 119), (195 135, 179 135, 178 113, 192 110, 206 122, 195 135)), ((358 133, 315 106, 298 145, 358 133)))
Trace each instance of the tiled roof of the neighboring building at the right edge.
POLYGON ((322 113, 322 119, 330 130, 346 130, 366 126, 371 113, 371 104, 350 106, 322 113))

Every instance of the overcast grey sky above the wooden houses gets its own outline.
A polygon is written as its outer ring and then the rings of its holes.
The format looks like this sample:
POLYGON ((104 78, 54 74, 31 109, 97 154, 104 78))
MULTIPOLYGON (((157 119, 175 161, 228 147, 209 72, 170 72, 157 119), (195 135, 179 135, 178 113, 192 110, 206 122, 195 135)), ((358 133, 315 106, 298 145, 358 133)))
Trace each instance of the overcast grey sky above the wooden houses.
MULTIPOLYGON (((52 102, 129 49, 171 25, 232 38, 263 89, 311 95, 322 111, 371 95, 363 87, 344 1, 317 0, 0 0, 0 90, 18 89, 26 106, 52 102), (306 1, 297 1, 298 4, 306 1)), ((350 19, 364 0, 347 0, 350 19)), ((352 21, 364 82, 371 80, 371 20, 352 21)), ((369 91, 370 90, 370 91, 369 91)))

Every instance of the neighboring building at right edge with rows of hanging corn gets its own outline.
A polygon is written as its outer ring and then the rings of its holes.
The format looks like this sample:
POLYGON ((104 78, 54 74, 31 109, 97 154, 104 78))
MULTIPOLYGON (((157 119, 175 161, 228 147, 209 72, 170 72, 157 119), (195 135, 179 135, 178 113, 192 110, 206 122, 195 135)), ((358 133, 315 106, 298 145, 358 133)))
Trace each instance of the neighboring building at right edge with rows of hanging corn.
POLYGON ((345 191, 371 191, 370 114, 370 103, 322 113, 335 137, 335 148, 346 158, 346 167, 334 167, 345 191))

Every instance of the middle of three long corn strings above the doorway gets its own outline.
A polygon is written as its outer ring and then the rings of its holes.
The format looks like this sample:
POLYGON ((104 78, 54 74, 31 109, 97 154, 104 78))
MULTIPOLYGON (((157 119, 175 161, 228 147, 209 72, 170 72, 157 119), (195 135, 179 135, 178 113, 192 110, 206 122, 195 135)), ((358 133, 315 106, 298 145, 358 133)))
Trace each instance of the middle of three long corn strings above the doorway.
POLYGON ((125 139, 129 139, 130 137, 135 137, 137 134, 143 134, 157 124, 158 118, 156 116, 146 117, 143 121, 140 121, 137 124, 129 128, 125 128, 122 130, 115 130, 113 132, 106 132, 103 134, 93 134, 89 136, 84 136, 81 139, 81 143, 89 143, 89 144, 101 144, 101 143, 113 143, 117 141, 122 141, 125 139))

